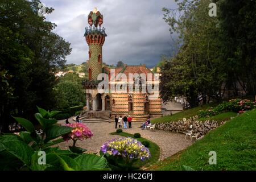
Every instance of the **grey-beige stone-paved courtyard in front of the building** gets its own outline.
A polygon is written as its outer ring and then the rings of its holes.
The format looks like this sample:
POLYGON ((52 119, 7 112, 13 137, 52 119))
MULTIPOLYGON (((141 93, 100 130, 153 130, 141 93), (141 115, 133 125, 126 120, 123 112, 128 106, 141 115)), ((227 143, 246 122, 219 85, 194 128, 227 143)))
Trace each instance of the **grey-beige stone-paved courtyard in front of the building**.
MULTIPOLYGON (((72 118, 69 119, 69 122, 72 121, 72 118)), ((65 120, 60 120, 59 123, 61 125, 65 124, 65 120)), ((86 139, 83 141, 77 140, 76 146, 82 147, 88 150, 88 152, 99 152, 100 147, 102 144, 114 137, 119 137, 116 135, 110 135, 109 133, 114 132, 116 129, 114 128, 114 122, 105 122, 105 123, 85 123, 86 126, 90 127, 93 132, 93 137, 91 139, 86 139)), ((152 142, 158 144, 160 147, 160 159, 163 160, 168 156, 174 155, 176 152, 187 148, 192 143, 189 139, 185 140, 184 134, 177 134, 177 133, 168 133, 165 131, 148 131, 142 130, 139 128, 141 123, 132 123, 131 129, 123 129, 122 130, 126 133, 140 133, 143 138, 151 140, 152 142)), ((72 146, 73 141, 69 140, 67 142, 63 142, 58 144, 60 148, 68 149, 68 146, 72 146)))

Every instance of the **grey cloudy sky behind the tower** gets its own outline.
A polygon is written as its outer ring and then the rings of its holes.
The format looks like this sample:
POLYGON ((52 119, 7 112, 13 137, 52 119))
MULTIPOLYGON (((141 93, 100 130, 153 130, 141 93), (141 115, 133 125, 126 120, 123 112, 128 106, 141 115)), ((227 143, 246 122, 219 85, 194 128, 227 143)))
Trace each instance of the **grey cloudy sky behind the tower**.
POLYGON ((88 60, 84 39, 87 16, 97 7, 104 15, 106 37, 103 61, 128 65, 146 64, 153 67, 161 55, 170 56, 172 39, 163 20, 163 7, 174 8, 174 0, 42 0, 55 11, 46 15, 57 24, 55 32, 71 43, 67 63, 81 64, 88 60))

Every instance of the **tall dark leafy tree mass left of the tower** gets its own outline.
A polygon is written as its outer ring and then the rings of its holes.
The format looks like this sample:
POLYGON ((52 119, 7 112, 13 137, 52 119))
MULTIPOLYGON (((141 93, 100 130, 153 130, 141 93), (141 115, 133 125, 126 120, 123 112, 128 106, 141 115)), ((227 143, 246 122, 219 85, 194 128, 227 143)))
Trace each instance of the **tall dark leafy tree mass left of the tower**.
POLYGON ((39 3, 0 2, 0 79, 6 83, 0 90, 1 132, 9 131, 11 115, 33 120, 36 105, 54 107, 54 73, 71 52, 70 44, 52 32, 56 24, 38 16, 39 3))

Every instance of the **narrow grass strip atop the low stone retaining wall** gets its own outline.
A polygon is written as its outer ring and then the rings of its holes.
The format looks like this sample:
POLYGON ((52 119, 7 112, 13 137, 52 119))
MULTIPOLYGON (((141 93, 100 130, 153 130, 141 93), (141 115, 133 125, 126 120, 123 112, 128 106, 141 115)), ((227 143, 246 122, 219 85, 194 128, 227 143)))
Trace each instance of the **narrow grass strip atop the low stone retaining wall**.
POLYGON ((214 106, 217 106, 218 103, 216 102, 213 102, 213 103, 210 103, 210 104, 206 104, 206 105, 203 105, 203 107, 199 106, 199 107, 194 107, 192 109, 188 109, 188 110, 184 110, 184 111, 181 111, 179 113, 175 113, 173 115, 166 115, 164 117, 160 117, 160 118, 156 118, 156 119, 152 119, 152 123, 162 123, 162 122, 171 122, 171 121, 177 121, 179 119, 182 119, 182 118, 189 118, 189 117, 192 117, 196 114, 199 113, 200 110, 202 109, 207 109, 208 107, 214 107, 214 106))

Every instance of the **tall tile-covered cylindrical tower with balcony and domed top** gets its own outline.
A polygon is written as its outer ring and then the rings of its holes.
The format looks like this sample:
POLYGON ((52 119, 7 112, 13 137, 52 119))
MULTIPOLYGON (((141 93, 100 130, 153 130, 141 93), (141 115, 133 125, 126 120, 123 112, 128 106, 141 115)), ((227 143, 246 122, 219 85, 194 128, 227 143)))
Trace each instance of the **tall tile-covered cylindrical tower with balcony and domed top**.
POLYGON ((97 80, 97 77, 102 73, 102 46, 105 42, 105 28, 103 23, 103 15, 94 8, 88 15, 89 28, 85 28, 85 40, 89 46, 89 64, 88 73, 89 80, 97 80))

